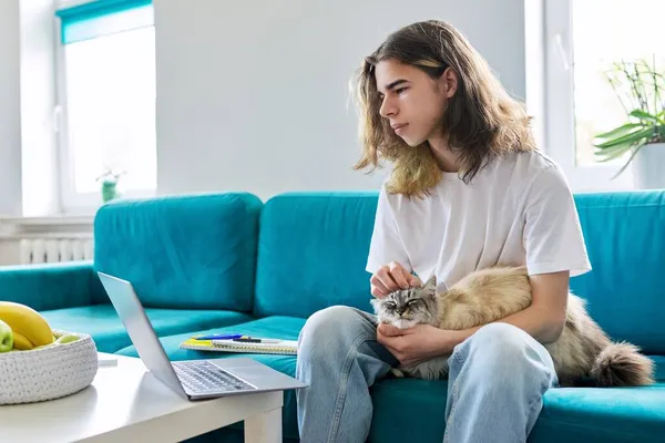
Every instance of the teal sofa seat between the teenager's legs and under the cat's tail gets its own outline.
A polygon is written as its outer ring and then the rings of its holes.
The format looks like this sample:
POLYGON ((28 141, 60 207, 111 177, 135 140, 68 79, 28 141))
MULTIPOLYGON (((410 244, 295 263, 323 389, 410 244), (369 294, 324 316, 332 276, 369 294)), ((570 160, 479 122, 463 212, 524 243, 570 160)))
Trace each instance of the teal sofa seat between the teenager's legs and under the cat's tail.
MULTIPOLYGON (((653 387, 549 390, 530 442, 652 442, 665 435, 665 357, 652 359, 659 379, 653 387)), ((447 381, 380 380, 371 389, 369 441, 440 443, 447 392, 447 381)))

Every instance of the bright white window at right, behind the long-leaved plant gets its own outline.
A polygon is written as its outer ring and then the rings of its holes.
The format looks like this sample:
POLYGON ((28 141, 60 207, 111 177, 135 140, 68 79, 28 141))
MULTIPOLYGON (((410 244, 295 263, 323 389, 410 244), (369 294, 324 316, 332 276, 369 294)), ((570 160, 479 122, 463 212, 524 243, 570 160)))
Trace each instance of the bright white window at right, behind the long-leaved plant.
POLYGON ((546 144, 574 190, 633 187, 630 167, 613 178, 627 156, 601 163, 593 141, 627 123, 605 75, 612 64, 643 59, 665 68, 664 16, 663 0, 545 2, 546 144))

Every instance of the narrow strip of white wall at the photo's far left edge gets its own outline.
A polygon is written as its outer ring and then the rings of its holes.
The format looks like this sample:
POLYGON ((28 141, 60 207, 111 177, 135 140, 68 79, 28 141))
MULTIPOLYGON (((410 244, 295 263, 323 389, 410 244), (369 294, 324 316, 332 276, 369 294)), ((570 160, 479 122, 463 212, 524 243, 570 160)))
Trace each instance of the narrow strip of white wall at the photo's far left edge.
POLYGON ((21 214, 19 0, 0 1, 0 215, 21 214))

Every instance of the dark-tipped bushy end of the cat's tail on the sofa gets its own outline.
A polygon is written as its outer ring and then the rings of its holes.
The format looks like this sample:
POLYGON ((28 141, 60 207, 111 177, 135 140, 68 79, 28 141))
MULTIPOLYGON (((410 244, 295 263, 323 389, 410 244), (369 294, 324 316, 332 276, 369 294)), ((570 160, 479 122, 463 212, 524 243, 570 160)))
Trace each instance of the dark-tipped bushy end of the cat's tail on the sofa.
POLYGON ((611 343, 601 351, 591 368, 597 385, 640 387, 654 383, 653 361, 631 343, 611 343))

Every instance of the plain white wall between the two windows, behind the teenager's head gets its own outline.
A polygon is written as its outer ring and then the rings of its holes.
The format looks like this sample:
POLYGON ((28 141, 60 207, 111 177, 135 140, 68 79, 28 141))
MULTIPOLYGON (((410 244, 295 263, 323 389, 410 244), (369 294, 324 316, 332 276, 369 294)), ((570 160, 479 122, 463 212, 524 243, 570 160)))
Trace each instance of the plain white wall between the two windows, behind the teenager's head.
POLYGON ((391 31, 458 27, 525 96, 524 0, 155 0, 160 194, 377 188, 348 82, 391 31))

